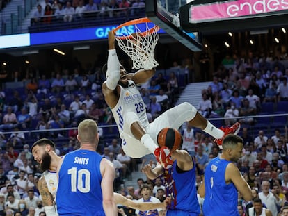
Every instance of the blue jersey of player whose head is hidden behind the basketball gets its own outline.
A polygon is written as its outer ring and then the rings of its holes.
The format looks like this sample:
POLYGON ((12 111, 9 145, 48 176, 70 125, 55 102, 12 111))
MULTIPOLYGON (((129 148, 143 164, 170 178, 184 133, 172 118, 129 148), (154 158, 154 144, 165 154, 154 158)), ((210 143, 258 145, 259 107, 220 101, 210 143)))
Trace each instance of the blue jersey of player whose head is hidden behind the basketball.
POLYGON ((166 215, 198 216, 200 206, 197 199, 195 165, 189 171, 177 168, 177 161, 164 174, 166 196, 173 197, 166 215))

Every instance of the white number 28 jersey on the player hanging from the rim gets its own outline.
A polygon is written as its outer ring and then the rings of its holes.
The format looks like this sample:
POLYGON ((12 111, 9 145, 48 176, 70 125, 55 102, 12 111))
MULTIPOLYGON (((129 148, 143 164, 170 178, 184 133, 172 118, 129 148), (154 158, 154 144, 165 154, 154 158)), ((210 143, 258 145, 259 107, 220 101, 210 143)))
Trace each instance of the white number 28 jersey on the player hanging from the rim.
POLYGON ((113 117, 118 126, 120 138, 123 137, 123 126, 125 123, 124 115, 128 112, 136 113, 139 117, 141 125, 146 128, 149 125, 145 103, 141 97, 141 94, 136 84, 129 80, 127 88, 120 86, 120 97, 116 106, 112 109, 113 117))

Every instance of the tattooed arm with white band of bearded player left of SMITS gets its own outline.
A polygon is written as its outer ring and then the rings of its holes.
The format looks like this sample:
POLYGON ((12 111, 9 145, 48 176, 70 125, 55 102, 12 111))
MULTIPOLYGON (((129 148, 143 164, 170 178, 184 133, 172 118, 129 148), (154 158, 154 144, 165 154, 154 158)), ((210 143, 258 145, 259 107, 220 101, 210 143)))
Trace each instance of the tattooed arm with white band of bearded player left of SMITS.
POLYGON ((54 198, 48 190, 48 186, 47 186, 44 176, 41 176, 41 178, 38 181, 38 190, 42 197, 42 203, 43 203, 46 215, 47 216, 57 215, 56 208, 54 206, 54 198))

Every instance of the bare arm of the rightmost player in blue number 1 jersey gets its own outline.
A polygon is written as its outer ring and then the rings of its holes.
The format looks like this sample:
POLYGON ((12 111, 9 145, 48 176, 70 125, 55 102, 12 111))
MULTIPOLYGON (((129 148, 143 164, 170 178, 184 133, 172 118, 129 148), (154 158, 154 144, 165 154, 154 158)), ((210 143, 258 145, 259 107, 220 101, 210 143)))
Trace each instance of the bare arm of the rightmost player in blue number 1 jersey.
POLYGON ((232 183, 234 183, 237 190, 241 193, 243 199, 245 199, 246 201, 250 201, 252 199, 251 188, 239 172, 239 169, 234 165, 234 163, 230 163, 227 165, 225 172, 225 180, 232 181, 232 183))

